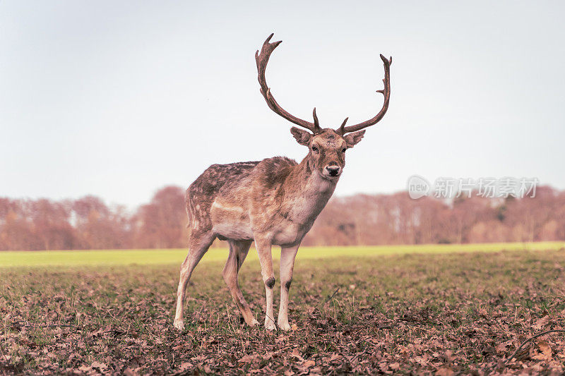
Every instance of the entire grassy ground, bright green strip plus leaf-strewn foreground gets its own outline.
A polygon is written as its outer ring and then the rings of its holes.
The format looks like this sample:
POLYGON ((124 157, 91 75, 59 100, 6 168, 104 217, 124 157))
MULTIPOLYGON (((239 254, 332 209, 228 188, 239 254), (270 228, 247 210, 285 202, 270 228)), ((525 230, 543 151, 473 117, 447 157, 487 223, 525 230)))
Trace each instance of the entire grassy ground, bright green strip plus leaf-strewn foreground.
MULTIPOLYGON (((221 249, 195 269, 177 332, 185 253, 0 253, 0 375, 565 372, 564 243, 304 248, 290 332, 242 323, 221 249)), ((263 322, 256 253, 239 281, 263 322)))

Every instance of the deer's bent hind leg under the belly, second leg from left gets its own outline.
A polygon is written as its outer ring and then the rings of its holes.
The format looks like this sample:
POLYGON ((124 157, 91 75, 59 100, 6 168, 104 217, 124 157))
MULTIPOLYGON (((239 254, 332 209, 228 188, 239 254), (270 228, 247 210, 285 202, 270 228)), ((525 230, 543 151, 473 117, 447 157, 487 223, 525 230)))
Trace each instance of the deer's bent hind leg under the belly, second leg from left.
POLYGON ((237 308, 239 308, 239 311, 242 313, 247 325, 258 325, 259 322, 253 316, 253 313, 251 313, 249 304, 245 301, 242 290, 239 289, 239 281, 237 280, 239 268, 242 267, 245 257, 247 257, 252 241, 230 240, 228 243, 230 243, 230 255, 227 257, 227 261, 225 262, 222 276, 224 277, 224 281, 230 289, 232 298, 234 299, 237 308))

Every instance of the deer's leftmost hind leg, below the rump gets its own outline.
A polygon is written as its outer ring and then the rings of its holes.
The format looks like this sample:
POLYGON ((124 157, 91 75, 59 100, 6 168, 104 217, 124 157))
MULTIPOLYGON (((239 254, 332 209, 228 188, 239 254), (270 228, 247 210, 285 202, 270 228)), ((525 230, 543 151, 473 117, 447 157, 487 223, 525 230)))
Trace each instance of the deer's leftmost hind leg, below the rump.
POLYGON ((177 329, 184 329, 183 310, 184 300, 186 298, 186 285, 189 284, 192 271, 196 265, 198 265, 198 262, 200 262, 204 253, 206 253, 208 248, 210 248, 214 239, 215 235, 211 230, 201 231, 199 229, 194 229, 191 233, 189 240, 189 254, 186 255, 186 258, 181 265, 179 287, 177 289, 177 312, 174 315, 173 322, 174 327, 177 329))

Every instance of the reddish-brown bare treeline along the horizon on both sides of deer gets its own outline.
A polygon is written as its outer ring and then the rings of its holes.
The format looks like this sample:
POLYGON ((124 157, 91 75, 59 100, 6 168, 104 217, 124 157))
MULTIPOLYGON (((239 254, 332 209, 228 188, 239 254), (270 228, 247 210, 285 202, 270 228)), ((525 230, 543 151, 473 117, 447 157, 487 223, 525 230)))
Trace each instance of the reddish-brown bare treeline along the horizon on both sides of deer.
MULTIPOLYGON (((52 201, 0 198, 0 250, 182 248, 184 190, 159 190, 133 212, 95 196, 52 201)), ((434 198, 408 193, 334 198, 303 245, 565 241, 565 192, 535 198, 434 198)))

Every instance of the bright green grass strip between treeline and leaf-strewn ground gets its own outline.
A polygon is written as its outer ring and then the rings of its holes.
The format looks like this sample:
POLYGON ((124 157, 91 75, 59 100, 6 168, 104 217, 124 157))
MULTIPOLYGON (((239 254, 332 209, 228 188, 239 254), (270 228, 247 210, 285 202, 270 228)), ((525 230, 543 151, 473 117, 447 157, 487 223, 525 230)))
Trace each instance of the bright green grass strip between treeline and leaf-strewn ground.
MULTIPOLYGON (((559 250, 564 248, 565 242, 303 247, 300 248, 298 257, 309 260, 344 256, 373 257, 410 253, 500 252, 501 250, 559 250)), ((186 252, 186 249, 8 251, 0 252, 0 267, 180 264, 186 257, 186 252)), ((279 253, 273 247, 273 258, 278 259, 278 256, 279 253)), ((225 260, 226 257, 227 249, 211 248, 201 262, 225 260)), ((256 259, 257 253, 251 250, 248 260, 256 259)))

